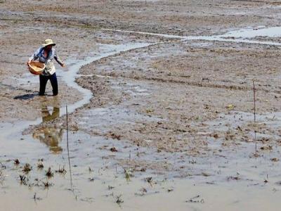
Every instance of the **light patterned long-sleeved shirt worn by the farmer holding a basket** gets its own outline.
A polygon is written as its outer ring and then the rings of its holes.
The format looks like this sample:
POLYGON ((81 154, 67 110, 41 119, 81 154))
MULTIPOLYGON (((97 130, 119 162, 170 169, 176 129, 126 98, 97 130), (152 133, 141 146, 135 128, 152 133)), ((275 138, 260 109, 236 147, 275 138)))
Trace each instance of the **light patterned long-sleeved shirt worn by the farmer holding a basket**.
POLYGON ((44 51, 44 47, 37 49, 30 57, 30 61, 38 59, 39 62, 46 65, 42 75, 53 75, 55 73, 55 65, 53 65, 53 60, 55 59, 60 65, 63 65, 63 62, 57 56, 54 48, 51 49, 47 57, 44 56, 44 51))

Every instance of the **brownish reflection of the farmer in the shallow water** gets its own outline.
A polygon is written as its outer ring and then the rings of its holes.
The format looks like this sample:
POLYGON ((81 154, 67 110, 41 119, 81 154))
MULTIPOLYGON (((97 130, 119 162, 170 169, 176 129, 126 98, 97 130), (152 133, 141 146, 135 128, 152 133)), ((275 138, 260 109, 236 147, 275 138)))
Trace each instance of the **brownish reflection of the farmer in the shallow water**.
MULTIPOLYGON (((51 114, 47 106, 42 107, 42 120, 43 123, 55 120, 60 117, 60 108, 53 108, 53 113, 51 114)), ((41 129, 37 129, 33 133, 33 138, 38 139, 40 142, 45 143, 49 146, 50 151, 53 153, 60 153, 63 151, 63 148, 58 146, 58 143, 63 139, 63 129, 57 127, 43 126, 41 129)))

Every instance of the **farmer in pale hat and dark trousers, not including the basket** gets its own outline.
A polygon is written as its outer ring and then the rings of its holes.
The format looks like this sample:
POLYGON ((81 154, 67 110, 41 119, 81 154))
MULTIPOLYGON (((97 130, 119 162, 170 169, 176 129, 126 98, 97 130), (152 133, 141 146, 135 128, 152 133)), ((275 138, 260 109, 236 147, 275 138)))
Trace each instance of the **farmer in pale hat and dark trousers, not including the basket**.
POLYGON ((55 75, 55 65, 53 65, 53 59, 55 59, 63 68, 65 67, 65 64, 60 60, 60 58, 58 58, 57 54, 55 53, 55 49, 53 49, 53 46, 55 46, 53 40, 46 39, 44 44, 42 44, 42 46, 33 53, 33 55, 27 62, 27 65, 29 65, 32 60, 38 59, 39 62, 46 65, 46 68, 43 70, 41 75, 39 75, 39 96, 44 96, 48 80, 50 80, 53 87, 53 96, 58 95, 58 80, 57 76, 55 75))

